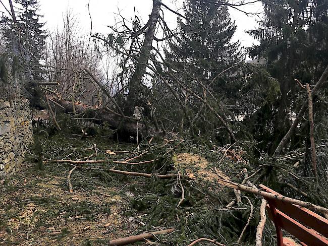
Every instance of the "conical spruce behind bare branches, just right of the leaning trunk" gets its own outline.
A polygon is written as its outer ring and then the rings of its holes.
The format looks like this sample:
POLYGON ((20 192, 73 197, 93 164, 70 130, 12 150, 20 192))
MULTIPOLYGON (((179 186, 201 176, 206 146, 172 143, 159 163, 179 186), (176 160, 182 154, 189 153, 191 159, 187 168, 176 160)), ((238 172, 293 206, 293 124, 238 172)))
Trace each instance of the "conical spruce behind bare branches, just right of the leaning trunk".
MULTIPOLYGON (((203 87, 186 74, 198 79, 204 86, 208 86, 216 98, 224 97, 225 100, 233 100, 238 92, 238 86, 235 84, 237 80, 232 76, 236 70, 231 70, 230 74, 226 73, 212 80, 227 68, 239 64, 243 59, 239 42, 232 42, 237 27, 230 18, 227 6, 216 1, 187 0, 184 3, 184 16, 186 19, 178 19, 178 31, 181 33, 179 42, 171 43, 166 57, 173 67, 185 72, 185 74, 178 72, 175 76, 190 89, 206 97, 207 102, 224 115, 218 101, 210 98, 208 94, 205 95, 203 87), (227 83, 228 77, 229 83, 227 83)), ((180 95, 184 93, 179 91, 180 95)), ((193 101, 190 98, 189 101, 196 116, 203 115, 193 120, 192 127, 196 130, 195 133, 206 132, 214 139, 214 129, 220 128, 217 118, 206 107, 199 105, 197 100, 193 101), (199 111, 201 113, 197 114, 199 111)), ((221 138, 224 139, 226 136, 221 136, 221 138)))

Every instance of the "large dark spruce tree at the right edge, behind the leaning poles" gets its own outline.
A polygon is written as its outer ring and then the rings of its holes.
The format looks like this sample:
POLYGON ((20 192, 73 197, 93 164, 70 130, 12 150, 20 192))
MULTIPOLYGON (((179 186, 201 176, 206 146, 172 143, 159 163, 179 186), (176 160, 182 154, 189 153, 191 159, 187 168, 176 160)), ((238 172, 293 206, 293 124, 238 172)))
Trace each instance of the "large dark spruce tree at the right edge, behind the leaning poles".
MULTIPOLYGON (((298 111, 304 98, 304 91, 295 83, 298 79, 303 84, 314 85, 328 64, 328 2, 326 0, 263 0, 264 18, 260 28, 248 33, 260 41, 249 54, 266 61, 266 69, 280 83, 281 97, 271 108, 262 108, 261 115, 263 136, 270 136, 273 141, 264 141, 270 145, 272 154, 288 131, 293 115, 298 111)), ((317 105, 318 105, 317 101, 317 105)), ((322 108, 322 107, 321 107, 322 108)), ((325 107, 323 107, 325 108, 325 107)), ((306 124, 306 122, 303 122, 306 124)), ((301 127, 297 137, 292 140, 291 148, 300 147, 301 127)))

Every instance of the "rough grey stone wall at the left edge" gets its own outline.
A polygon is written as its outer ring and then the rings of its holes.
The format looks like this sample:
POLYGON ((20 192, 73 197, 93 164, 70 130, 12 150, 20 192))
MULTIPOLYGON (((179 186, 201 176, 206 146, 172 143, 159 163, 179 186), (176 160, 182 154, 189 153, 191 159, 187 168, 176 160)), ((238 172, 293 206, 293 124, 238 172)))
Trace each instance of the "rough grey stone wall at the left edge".
POLYGON ((0 182, 19 169, 33 141, 31 111, 27 99, 0 99, 0 182))

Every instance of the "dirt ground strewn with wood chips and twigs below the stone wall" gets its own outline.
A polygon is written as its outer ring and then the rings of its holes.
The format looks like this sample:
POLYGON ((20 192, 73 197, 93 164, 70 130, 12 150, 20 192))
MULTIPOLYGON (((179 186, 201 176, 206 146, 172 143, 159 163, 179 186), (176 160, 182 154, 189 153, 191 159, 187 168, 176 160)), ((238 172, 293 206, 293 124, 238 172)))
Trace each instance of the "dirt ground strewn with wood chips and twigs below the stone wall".
POLYGON ((92 240, 101 244, 138 229, 135 221, 122 215, 132 193, 122 198, 122 186, 97 182, 69 193, 66 176, 67 168, 61 166, 40 173, 34 163, 25 163, 2 187, 0 245, 88 245, 92 240))

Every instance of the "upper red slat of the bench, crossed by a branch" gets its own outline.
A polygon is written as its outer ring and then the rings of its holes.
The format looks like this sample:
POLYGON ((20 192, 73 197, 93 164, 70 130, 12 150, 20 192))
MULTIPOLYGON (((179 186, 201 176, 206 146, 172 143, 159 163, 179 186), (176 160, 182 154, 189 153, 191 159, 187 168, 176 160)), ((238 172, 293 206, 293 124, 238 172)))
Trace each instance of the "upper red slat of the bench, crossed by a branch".
MULTIPOLYGON (((278 192, 271 190, 270 188, 260 184, 259 187, 264 189, 266 192, 280 195, 278 192)), ((290 217, 300 221, 304 225, 313 228, 323 236, 328 238, 328 219, 323 218, 322 216, 312 212, 309 209, 303 208, 301 206, 284 203, 281 201, 270 201, 272 202, 277 209, 288 214, 290 217)))

